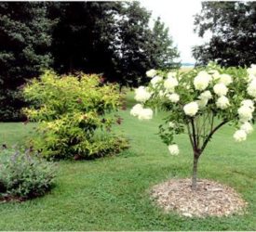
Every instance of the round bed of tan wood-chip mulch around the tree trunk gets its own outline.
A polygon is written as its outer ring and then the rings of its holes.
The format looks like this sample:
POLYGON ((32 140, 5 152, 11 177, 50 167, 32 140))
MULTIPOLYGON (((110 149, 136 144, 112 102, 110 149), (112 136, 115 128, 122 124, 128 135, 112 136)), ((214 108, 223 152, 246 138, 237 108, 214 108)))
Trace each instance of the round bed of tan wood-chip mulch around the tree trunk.
POLYGON ((196 191, 191 189, 191 179, 172 179, 154 186, 151 194, 165 213, 187 217, 242 214, 248 204, 232 187, 207 179, 197 180, 196 191))

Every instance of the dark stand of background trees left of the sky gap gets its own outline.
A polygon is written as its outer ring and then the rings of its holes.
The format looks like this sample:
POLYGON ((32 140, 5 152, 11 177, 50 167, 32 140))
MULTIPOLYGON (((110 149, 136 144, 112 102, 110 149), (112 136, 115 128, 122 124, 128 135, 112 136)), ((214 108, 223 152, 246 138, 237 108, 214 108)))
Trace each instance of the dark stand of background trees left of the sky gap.
POLYGON ((120 86, 179 66, 160 19, 139 2, 0 3, 0 120, 19 121, 20 88, 41 71, 101 73, 120 86))

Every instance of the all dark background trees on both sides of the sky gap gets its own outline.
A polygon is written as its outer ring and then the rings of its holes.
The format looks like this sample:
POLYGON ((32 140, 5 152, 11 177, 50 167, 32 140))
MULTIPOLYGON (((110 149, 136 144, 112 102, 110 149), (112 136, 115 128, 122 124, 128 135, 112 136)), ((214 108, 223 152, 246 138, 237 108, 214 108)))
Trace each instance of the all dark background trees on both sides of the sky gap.
MULTIPOLYGON (((122 87, 178 67, 168 28, 151 20, 139 2, 1 2, 0 121, 20 120, 20 87, 49 68, 101 73, 122 87)), ((196 65, 256 63, 256 2, 202 2, 195 33, 207 32, 209 42, 192 49, 196 65)))

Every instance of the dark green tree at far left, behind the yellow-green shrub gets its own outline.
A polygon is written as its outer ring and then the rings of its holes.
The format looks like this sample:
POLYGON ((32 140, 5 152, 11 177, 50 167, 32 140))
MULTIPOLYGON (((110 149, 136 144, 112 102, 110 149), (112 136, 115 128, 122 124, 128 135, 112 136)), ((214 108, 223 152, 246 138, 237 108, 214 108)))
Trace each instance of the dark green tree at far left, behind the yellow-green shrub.
POLYGON ((52 62, 45 3, 0 3, 0 120, 19 120, 18 88, 52 62))

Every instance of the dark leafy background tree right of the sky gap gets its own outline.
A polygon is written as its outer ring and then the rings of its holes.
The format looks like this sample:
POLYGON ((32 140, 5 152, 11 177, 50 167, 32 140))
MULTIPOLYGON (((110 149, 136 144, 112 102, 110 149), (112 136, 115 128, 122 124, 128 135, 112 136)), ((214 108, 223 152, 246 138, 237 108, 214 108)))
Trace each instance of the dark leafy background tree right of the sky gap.
POLYGON ((195 32, 212 36, 209 43, 194 47, 197 63, 216 60, 222 66, 249 66, 256 59, 255 30, 255 2, 203 2, 195 15, 195 32))

